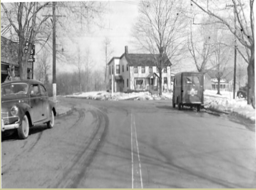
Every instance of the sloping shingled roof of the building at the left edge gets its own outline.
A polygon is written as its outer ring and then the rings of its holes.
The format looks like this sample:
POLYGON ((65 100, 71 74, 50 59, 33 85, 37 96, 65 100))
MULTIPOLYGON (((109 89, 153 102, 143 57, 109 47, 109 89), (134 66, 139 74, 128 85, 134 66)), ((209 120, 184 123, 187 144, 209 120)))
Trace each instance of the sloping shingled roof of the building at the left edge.
POLYGON ((18 65, 19 44, 1 36, 1 62, 18 65))

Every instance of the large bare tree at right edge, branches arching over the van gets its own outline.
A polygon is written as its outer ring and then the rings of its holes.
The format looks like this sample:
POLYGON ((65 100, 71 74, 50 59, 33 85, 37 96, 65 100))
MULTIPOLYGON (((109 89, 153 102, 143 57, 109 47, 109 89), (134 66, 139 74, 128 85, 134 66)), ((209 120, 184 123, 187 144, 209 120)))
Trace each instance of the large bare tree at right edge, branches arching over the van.
MULTIPOLYGON (((216 17, 218 21, 227 27, 230 32, 235 36, 240 44, 245 49, 242 52, 238 49, 238 52, 243 59, 248 63, 248 98, 247 103, 251 104, 255 109, 255 71, 254 71, 254 13, 253 3, 254 0, 243 1, 243 0, 231 0, 230 3, 234 8, 234 14, 223 14, 223 5, 225 2, 214 3, 211 0, 199 1, 191 0, 197 5, 203 12, 216 17), (221 7, 222 6, 222 7, 221 7), (233 16, 232 16, 233 15, 233 16), (230 17, 234 19, 230 20, 230 17)), ((226 4, 227 5, 227 4, 226 4)), ((227 9, 224 9, 227 12, 227 9)))

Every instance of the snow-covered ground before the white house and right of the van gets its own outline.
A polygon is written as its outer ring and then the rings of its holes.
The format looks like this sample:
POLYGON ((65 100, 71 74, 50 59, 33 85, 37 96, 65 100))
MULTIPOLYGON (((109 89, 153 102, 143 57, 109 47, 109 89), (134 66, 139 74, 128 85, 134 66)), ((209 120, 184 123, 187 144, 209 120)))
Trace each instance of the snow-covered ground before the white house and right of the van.
MULTIPOLYGON (((133 92, 122 93, 115 92, 111 96, 110 92, 83 92, 67 95, 66 97, 87 98, 94 100, 169 100, 172 99, 172 93, 164 93, 160 97, 158 95, 151 95, 149 92, 133 92)), ((204 92, 204 107, 215 109, 223 112, 235 112, 243 117, 255 121, 255 110, 252 106, 247 105, 245 99, 233 99, 233 92, 221 91, 221 95, 217 95, 216 90, 205 90, 204 92)))

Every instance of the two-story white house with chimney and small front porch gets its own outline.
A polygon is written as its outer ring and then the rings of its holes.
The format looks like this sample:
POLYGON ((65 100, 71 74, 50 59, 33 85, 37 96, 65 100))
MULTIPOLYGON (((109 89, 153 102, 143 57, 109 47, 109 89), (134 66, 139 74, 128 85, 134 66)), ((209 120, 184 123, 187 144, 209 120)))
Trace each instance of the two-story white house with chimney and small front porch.
MULTIPOLYGON (((114 92, 157 91, 159 72, 152 54, 129 54, 128 46, 121 57, 113 57, 108 63, 109 86, 114 92), (113 80, 113 82, 112 82, 113 80)), ((162 89, 171 89, 171 62, 162 71, 162 89)))

